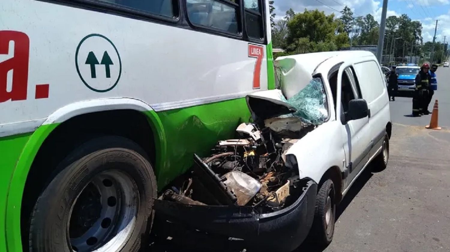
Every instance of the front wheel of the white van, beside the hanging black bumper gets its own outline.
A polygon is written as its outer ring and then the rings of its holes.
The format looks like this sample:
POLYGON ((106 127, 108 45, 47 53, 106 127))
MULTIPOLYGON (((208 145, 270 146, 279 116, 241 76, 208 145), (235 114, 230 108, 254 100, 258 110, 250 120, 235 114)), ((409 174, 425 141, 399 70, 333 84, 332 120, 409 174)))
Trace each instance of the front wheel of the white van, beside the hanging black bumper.
POLYGON ((314 221, 310 230, 312 242, 326 247, 333 240, 336 202, 334 184, 326 180, 315 199, 314 221))

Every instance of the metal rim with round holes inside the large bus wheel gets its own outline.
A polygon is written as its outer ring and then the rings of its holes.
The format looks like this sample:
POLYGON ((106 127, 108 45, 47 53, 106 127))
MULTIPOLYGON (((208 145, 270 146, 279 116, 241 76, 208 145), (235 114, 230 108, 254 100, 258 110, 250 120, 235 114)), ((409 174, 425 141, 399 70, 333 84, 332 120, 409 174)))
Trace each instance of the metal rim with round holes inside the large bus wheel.
POLYGON ((67 237, 75 252, 120 251, 136 225, 139 195, 124 172, 97 174, 72 203, 67 237))

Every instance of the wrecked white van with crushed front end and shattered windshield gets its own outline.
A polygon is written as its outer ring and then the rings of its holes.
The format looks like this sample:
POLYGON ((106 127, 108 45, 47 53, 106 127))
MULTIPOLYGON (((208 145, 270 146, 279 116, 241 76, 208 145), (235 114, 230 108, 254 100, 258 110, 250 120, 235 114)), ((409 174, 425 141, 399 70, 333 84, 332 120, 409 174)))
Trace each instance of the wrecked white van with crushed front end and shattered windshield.
POLYGON ((253 122, 203 151, 209 156, 194 155, 189 178, 155 200, 158 213, 257 251, 290 252, 308 234, 331 242, 350 186, 371 161, 387 166, 384 75, 366 51, 279 57, 275 66, 277 88, 246 97, 253 122))

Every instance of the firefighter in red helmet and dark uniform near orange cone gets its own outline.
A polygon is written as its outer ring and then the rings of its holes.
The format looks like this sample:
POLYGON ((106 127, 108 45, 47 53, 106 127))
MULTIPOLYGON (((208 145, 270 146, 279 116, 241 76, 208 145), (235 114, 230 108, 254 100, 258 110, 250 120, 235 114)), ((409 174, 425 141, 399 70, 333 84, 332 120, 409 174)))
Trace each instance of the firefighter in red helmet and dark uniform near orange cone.
POLYGON ((424 63, 420 67, 420 72, 416 75, 415 84, 416 89, 414 90, 413 97, 413 116, 428 115, 428 86, 431 82, 431 77, 428 71, 430 70, 430 65, 424 63))

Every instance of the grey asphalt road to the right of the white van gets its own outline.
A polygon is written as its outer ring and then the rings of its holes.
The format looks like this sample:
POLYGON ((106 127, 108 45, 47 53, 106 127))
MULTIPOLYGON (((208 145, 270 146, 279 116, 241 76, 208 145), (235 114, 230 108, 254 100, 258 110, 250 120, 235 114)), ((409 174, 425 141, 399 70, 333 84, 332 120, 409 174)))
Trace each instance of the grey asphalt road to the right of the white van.
MULTIPOLYGON (((325 252, 450 251, 450 69, 437 71, 439 125, 413 118, 411 98, 391 102, 391 155, 383 172, 367 170, 338 208, 325 252)), ((430 111, 432 106, 430 106, 430 111)), ((298 251, 317 251, 302 246, 298 251)))

